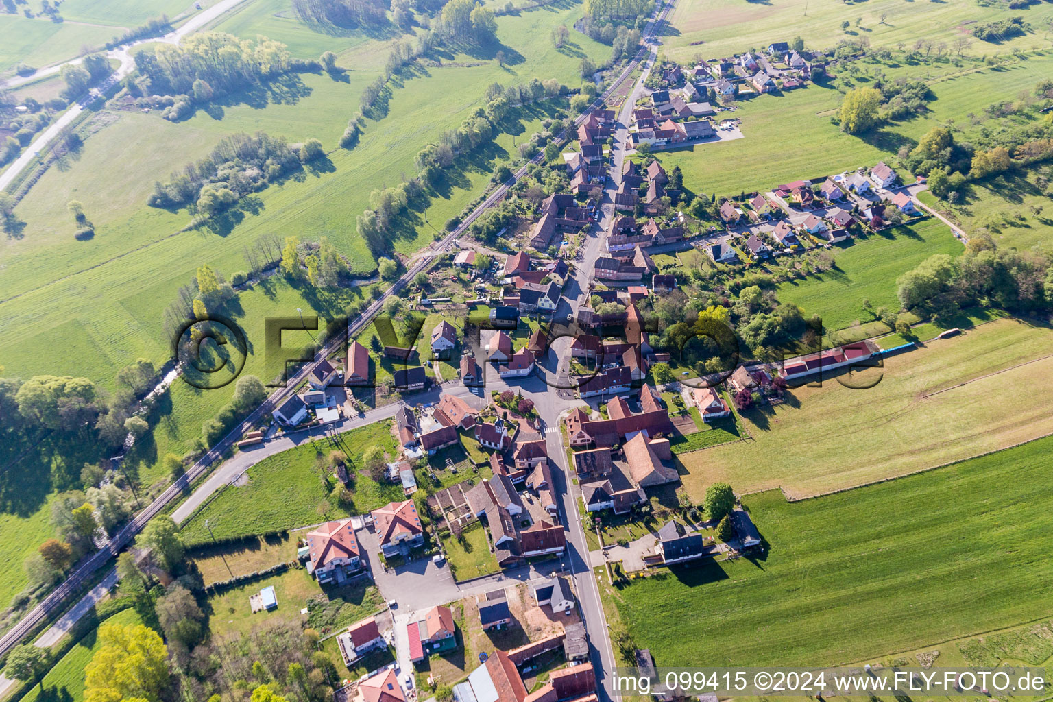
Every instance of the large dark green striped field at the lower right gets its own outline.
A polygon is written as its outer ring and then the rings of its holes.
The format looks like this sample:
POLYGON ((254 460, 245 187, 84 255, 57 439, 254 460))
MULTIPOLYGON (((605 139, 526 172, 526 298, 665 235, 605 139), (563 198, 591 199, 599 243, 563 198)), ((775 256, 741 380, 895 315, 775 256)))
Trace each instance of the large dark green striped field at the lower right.
POLYGON ((847 664, 1048 617, 1050 450, 796 503, 747 497, 762 555, 601 585, 608 616, 658 666, 847 664))

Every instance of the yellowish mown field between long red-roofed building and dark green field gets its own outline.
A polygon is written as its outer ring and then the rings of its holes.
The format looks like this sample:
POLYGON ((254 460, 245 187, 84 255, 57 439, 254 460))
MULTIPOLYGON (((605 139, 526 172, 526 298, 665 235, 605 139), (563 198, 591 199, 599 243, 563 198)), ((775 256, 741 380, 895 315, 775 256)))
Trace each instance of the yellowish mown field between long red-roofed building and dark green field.
POLYGON ((696 503, 717 480, 801 498, 1042 436, 1053 388, 1034 379, 1053 373, 1051 342, 1053 328, 998 320, 857 374, 855 384, 882 374, 870 389, 834 379, 792 389, 784 404, 743 415, 753 441, 681 454, 684 487, 696 503))

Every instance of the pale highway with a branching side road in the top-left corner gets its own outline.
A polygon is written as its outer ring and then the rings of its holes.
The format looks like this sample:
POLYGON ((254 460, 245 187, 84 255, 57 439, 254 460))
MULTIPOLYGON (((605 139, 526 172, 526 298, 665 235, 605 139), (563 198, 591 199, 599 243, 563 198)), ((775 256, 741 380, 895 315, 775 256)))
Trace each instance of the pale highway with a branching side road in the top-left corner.
MULTIPOLYGON (((121 64, 117 67, 117 69, 114 73, 110 75, 108 78, 106 78, 105 81, 102 82, 102 84, 98 86, 98 89, 101 93, 105 93, 111 87, 113 87, 119 80, 121 80, 135 69, 135 60, 132 58, 132 55, 128 53, 128 49, 135 46, 136 44, 140 44, 146 41, 178 44, 180 39, 182 39, 188 34, 197 32, 205 24, 208 24, 214 19, 216 19, 217 17, 219 17, 220 15, 222 15, 223 13, 225 13, 226 11, 231 9, 232 7, 241 2, 244 2, 244 0, 221 0, 221 2, 217 2, 212 7, 208 7, 207 9, 198 13, 197 15, 192 17, 187 22, 182 24, 180 27, 170 32, 163 37, 153 37, 148 39, 142 39, 140 41, 126 44, 124 46, 119 46, 118 48, 115 48, 111 52, 106 52, 106 56, 108 58, 117 59, 118 61, 121 62, 121 64)), ((66 61, 66 63, 75 64, 75 63, 80 63, 81 61, 83 61, 83 58, 73 59, 72 61, 66 61)), ((33 76, 26 77, 25 79, 21 80, 12 79, 7 81, 7 85, 8 87, 15 87, 26 81, 36 80, 41 76, 58 73, 59 71, 62 69, 63 65, 65 64, 60 63, 58 65, 43 68, 35 73, 33 76)), ((20 173, 22 173, 22 171, 29 164, 31 161, 33 161, 33 159, 37 156, 37 154, 42 153, 43 149, 47 146, 47 144, 49 144, 52 140, 55 139, 55 137, 57 137, 58 134, 63 128, 65 128, 75 119, 77 119, 77 117, 80 116, 80 114, 84 112, 84 109, 87 106, 92 105, 94 102, 95 99, 88 97, 85 97, 82 100, 76 102, 72 107, 65 111, 62 114, 62 116, 55 121, 54 124, 44 129, 40 134, 40 136, 34 139, 33 143, 29 144, 28 148, 26 148, 21 156, 15 159, 15 161, 9 166, 7 166, 7 169, 4 171, 2 175, 0 175, 0 190, 11 185, 11 183, 15 180, 15 178, 17 178, 20 173)))

